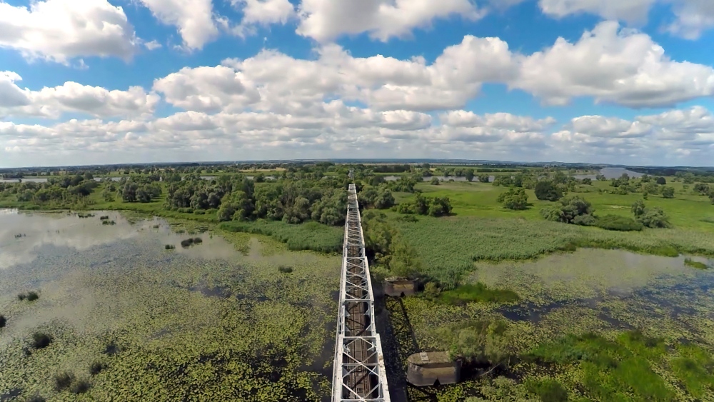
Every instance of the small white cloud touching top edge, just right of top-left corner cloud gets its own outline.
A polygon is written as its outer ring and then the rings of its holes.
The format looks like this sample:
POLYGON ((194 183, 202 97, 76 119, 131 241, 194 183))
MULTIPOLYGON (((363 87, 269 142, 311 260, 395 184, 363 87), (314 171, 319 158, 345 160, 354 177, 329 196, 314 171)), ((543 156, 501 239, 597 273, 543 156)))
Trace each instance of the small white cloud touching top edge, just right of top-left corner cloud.
POLYGON ((186 49, 203 49, 218 36, 211 0, 140 0, 167 25, 178 27, 186 49))

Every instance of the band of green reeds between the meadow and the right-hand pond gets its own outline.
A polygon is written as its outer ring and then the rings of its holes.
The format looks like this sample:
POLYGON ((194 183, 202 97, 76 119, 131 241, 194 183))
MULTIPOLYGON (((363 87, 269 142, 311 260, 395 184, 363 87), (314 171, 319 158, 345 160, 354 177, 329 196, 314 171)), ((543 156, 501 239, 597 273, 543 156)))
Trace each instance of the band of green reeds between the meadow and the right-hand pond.
POLYGON ((447 288, 456 286, 463 273, 473 271, 474 261, 528 260, 578 247, 619 248, 660 256, 714 256, 714 233, 676 228, 620 232, 550 221, 471 216, 394 221, 403 238, 418 251, 423 273, 447 288))

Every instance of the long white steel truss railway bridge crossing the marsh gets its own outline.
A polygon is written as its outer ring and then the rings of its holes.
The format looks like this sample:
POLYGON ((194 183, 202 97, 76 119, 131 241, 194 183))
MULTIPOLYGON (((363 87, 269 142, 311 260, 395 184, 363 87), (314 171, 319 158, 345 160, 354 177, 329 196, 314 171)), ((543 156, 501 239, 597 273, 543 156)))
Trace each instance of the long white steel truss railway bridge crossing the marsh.
MULTIPOLYGON (((353 173, 350 172, 350 176, 353 173)), ((333 402, 389 402, 374 296, 354 184, 349 186, 340 306, 333 365, 333 402)))

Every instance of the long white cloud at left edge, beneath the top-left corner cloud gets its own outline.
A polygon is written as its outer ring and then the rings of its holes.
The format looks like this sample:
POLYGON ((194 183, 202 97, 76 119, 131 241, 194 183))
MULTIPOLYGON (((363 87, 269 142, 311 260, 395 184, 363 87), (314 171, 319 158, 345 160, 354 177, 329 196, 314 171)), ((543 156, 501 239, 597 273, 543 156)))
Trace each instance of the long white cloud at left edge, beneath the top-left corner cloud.
POLYGON ((21 89, 14 81, 21 77, 6 71, 0 73, 0 118, 5 116, 39 116, 59 118, 64 112, 79 112, 98 117, 141 116, 154 113, 159 96, 147 94, 141 86, 128 91, 86 86, 66 82, 39 91, 21 89))

